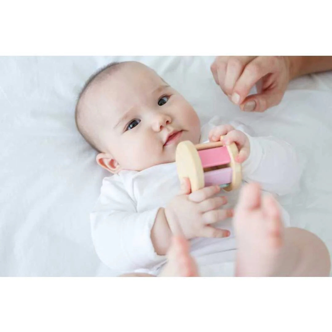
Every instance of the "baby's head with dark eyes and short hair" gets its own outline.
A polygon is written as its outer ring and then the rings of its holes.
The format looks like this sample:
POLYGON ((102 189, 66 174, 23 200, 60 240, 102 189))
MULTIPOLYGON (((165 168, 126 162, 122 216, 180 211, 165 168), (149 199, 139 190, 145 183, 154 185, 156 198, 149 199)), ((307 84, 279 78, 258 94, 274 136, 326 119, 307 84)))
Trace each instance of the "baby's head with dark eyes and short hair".
POLYGON ((200 139, 193 107, 154 70, 128 61, 108 65, 83 88, 77 128, 112 173, 173 162, 179 142, 200 139))

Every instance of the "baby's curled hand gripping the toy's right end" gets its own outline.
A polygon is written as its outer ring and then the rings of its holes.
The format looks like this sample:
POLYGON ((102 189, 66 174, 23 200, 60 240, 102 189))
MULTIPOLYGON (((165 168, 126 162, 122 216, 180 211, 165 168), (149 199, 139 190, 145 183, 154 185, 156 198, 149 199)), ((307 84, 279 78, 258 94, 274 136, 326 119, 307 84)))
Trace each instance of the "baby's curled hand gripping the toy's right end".
POLYGON ((235 143, 239 149, 239 154, 235 157, 235 161, 243 163, 250 155, 250 143, 247 135, 240 130, 234 129, 230 124, 223 124, 214 127, 209 132, 208 138, 210 142, 223 141, 225 145, 235 143), (225 135, 224 139, 220 136, 225 135))

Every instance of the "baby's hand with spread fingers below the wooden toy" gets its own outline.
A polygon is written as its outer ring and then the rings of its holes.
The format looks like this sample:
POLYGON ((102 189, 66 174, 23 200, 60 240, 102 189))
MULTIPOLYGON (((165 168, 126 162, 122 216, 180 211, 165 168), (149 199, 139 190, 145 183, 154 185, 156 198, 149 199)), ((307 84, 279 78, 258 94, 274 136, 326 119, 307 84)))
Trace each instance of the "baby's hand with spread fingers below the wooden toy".
POLYGON ((165 216, 171 232, 194 237, 226 237, 229 231, 215 228, 210 224, 229 218, 231 209, 219 209, 227 203, 226 197, 213 197, 220 192, 219 186, 210 186, 191 193, 188 178, 181 183, 180 195, 165 208, 165 216))

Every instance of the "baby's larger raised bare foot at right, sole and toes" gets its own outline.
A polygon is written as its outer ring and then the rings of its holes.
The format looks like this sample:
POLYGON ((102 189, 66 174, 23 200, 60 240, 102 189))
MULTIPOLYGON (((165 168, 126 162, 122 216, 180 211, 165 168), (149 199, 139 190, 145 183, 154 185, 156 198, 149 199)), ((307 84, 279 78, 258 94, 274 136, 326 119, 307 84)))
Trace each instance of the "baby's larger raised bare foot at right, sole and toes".
POLYGON ((234 214, 238 252, 236 276, 272 276, 279 268, 284 226, 272 195, 261 197, 258 184, 243 187, 234 214))

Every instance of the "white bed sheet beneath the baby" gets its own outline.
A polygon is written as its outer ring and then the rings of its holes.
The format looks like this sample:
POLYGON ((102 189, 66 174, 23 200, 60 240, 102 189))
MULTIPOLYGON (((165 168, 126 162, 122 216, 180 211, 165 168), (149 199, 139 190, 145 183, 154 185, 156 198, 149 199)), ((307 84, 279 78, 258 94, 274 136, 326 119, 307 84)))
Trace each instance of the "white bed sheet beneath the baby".
POLYGON ((332 72, 294 80, 279 106, 247 114, 215 85, 214 57, 0 57, 0 276, 116 275, 94 251, 88 215, 108 173, 76 131, 74 106, 90 74, 128 59, 154 68, 203 123, 239 117, 293 144, 303 174, 281 202, 332 253, 332 72))

